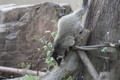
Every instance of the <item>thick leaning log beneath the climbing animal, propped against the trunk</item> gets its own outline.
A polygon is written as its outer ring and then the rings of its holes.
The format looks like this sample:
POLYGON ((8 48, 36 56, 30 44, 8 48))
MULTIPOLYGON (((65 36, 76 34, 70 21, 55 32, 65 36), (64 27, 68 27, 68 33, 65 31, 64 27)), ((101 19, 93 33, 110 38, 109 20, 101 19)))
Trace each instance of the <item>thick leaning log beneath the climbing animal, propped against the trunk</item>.
MULTIPOLYGON (((83 30, 82 34, 76 38, 76 44, 83 46, 86 45, 89 35, 89 30, 83 30)), ((48 74, 45 78, 39 77, 37 80, 66 80, 66 78, 73 76, 78 70, 82 72, 82 69, 83 64, 77 51, 70 50, 67 58, 61 63, 60 66, 54 67, 51 73, 48 74)))

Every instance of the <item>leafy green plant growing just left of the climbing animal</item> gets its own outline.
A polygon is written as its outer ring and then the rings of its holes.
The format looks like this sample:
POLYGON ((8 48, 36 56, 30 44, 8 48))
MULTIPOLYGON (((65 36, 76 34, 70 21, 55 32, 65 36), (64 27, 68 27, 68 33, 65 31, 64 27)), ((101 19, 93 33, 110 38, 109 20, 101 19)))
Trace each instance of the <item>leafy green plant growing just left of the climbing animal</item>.
MULTIPOLYGON (((48 32, 48 31, 47 31, 47 32, 48 32)), ((49 33, 51 34, 51 36, 52 36, 53 38, 55 38, 55 36, 56 36, 56 34, 57 34, 57 32, 50 32, 50 31, 49 31, 49 33)), ((34 37, 34 38, 36 38, 36 37, 34 37)), ((49 72, 49 71, 50 71, 50 68, 51 68, 51 67, 54 67, 54 66, 56 65, 54 59, 51 57, 51 55, 52 55, 52 50, 53 50, 53 43, 50 42, 50 41, 48 41, 48 40, 46 40, 46 39, 45 39, 45 36, 43 36, 42 38, 40 38, 39 41, 40 41, 44 46, 42 46, 41 48, 38 48, 38 50, 40 51, 40 50, 42 49, 42 50, 45 51, 45 53, 44 53, 44 54, 46 54, 46 56, 45 56, 45 63, 47 63, 47 65, 48 65, 48 68, 47 68, 47 69, 44 68, 43 70, 46 70, 47 72, 49 72)))

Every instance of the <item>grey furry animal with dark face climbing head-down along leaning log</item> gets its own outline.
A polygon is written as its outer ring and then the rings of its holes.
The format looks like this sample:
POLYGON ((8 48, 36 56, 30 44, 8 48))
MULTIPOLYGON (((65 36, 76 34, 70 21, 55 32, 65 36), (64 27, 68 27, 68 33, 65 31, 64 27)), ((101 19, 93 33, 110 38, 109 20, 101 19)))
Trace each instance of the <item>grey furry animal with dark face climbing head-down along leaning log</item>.
POLYGON ((58 21, 58 33, 54 39, 52 57, 60 66, 62 59, 65 59, 69 48, 75 44, 75 38, 84 29, 81 24, 82 16, 88 8, 88 0, 83 0, 82 8, 71 14, 63 16, 58 21))

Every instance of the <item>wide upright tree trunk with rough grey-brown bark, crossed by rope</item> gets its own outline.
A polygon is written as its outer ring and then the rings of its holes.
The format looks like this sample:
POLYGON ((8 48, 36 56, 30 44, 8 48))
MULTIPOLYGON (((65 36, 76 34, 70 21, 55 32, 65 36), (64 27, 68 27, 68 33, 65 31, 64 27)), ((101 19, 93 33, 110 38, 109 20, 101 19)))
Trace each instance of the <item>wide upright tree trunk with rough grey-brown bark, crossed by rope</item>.
MULTIPOLYGON (((85 28, 92 31, 87 45, 104 42, 116 43, 120 39, 120 0, 91 0, 85 28)), ((120 79, 120 48, 116 52, 88 51, 87 55, 100 75, 105 72, 109 80, 120 79), (109 57, 110 59, 106 59, 109 57)), ((84 68, 84 80, 93 80, 84 68)), ((103 80, 103 79, 102 79, 103 80)))

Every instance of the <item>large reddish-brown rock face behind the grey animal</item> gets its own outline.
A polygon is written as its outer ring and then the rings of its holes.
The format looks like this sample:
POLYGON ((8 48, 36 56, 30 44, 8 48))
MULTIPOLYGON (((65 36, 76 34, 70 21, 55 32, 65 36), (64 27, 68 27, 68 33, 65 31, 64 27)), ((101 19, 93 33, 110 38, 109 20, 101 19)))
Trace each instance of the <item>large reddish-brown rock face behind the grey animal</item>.
POLYGON ((0 6, 0 61, 3 61, 0 65, 14 67, 25 60, 34 60, 32 62, 36 65, 37 59, 42 58, 42 53, 37 50, 42 44, 31 38, 45 36, 47 40, 53 41, 45 31, 56 31, 59 15, 70 12, 68 4, 52 2, 0 6))

